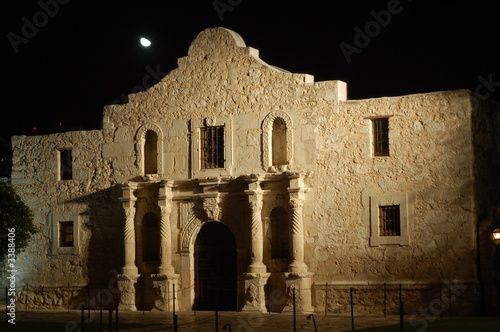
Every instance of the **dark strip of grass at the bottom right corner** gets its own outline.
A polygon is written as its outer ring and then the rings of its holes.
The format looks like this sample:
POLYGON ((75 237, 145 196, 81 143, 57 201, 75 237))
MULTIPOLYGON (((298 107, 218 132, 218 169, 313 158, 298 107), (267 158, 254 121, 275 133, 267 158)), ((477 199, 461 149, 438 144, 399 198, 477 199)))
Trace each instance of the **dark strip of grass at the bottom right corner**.
MULTIPOLYGON (((500 317, 456 317, 405 322, 405 332, 499 332, 500 317)), ((399 332, 399 324, 357 330, 359 332, 399 332)))

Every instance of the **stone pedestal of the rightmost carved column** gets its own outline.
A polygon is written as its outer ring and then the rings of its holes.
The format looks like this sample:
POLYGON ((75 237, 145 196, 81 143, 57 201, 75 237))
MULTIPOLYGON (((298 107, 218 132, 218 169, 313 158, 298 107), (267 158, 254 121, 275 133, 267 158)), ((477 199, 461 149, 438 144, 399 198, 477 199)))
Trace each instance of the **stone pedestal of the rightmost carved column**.
POLYGON ((295 311, 301 314, 314 312, 312 306, 312 276, 310 272, 285 272, 287 304, 283 312, 293 311, 293 290, 295 289, 295 311))

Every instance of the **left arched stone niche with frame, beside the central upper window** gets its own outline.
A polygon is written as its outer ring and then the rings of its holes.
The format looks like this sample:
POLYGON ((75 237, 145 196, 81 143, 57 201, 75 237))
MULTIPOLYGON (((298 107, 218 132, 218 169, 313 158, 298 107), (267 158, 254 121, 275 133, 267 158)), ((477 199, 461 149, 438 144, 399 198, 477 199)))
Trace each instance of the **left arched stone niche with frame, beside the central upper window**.
POLYGON ((163 174, 163 132, 160 127, 152 123, 139 127, 135 135, 135 156, 142 175, 163 174), (149 160, 146 161, 146 158, 149 160))

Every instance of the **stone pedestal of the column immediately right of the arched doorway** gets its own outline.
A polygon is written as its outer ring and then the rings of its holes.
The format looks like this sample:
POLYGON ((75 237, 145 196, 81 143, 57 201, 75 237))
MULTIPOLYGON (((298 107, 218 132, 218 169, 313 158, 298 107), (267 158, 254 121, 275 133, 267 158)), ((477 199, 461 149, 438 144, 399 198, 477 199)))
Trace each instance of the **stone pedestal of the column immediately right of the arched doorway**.
POLYGON ((267 312, 264 286, 270 273, 245 273, 245 306, 242 311, 267 312))

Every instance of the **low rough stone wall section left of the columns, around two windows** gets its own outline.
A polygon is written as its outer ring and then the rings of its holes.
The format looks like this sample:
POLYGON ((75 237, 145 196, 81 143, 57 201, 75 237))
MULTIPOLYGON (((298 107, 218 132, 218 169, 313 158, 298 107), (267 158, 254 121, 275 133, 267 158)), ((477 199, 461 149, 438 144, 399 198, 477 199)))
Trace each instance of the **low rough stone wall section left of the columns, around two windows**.
POLYGON ((103 139, 102 131, 13 137, 12 183, 40 229, 26 253, 18 256, 21 285, 106 282, 116 261, 123 260, 119 240, 123 212, 112 187, 111 165, 101 155, 103 139), (58 180, 57 151, 62 148, 73 149, 73 180, 58 180), (76 218, 77 252, 53 252, 58 238, 54 213, 76 218))

